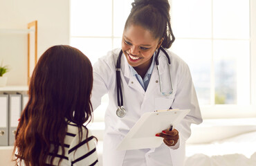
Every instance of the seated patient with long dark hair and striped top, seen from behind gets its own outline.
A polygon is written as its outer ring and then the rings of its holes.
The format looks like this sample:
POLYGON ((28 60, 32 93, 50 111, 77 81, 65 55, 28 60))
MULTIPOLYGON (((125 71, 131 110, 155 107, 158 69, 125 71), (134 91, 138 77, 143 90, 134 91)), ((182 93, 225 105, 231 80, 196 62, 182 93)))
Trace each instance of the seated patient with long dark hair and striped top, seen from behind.
POLYGON ((15 141, 17 165, 98 165, 91 121, 92 66, 80 50, 53 46, 40 57, 15 141))

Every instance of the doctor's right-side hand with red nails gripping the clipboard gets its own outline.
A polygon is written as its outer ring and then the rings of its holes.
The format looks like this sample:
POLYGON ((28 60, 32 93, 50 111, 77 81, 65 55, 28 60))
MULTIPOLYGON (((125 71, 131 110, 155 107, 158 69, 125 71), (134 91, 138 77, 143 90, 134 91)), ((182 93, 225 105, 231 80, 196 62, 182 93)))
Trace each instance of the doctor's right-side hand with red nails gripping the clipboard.
POLYGON ((179 140, 179 131, 173 129, 172 131, 163 130, 162 133, 156 133, 156 136, 163 137, 163 142, 168 147, 176 145, 179 140))

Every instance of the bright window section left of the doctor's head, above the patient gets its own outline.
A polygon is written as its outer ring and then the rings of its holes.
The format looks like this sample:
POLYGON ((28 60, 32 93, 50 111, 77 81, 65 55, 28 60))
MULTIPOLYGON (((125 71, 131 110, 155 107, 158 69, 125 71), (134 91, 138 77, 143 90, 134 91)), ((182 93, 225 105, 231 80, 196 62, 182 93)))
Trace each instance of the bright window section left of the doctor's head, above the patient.
POLYGON ((122 30, 132 0, 71 0, 71 46, 92 64, 109 50, 120 48, 122 30))

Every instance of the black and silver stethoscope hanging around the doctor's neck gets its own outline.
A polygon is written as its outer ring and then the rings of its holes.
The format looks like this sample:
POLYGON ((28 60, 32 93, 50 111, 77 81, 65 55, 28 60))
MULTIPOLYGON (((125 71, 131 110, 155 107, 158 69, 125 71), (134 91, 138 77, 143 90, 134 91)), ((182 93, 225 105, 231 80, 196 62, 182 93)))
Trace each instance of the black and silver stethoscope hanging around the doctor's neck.
MULTIPOLYGON (((116 85, 117 85, 117 98, 118 98, 118 109, 116 110, 116 115, 119 118, 124 117, 125 114, 126 114, 126 110, 123 106, 122 88, 121 88, 121 75, 120 75, 121 57, 122 57, 122 50, 120 50, 120 53, 118 55, 118 60, 116 61, 116 85)), ((173 88, 172 88, 172 77, 171 77, 171 60, 170 60, 169 55, 166 53, 165 49, 163 49, 162 47, 158 48, 158 51, 157 51, 156 56, 155 56, 155 62, 156 62, 156 68, 157 68, 157 71, 158 71, 158 78, 159 78, 159 85, 160 85, 161 94, 164 95, 164 96, 172 95, 173 88), (167 64, 169 65, 171 90, 168 93, 163 92, 162 85, 161 85, 161 77, 160 77, 159 68, 158 68, 158 65, 159 65, 158 59, 159 59, 160 50, 162 50, 163 53, 165 53, 165 57, 167 58, 167 62, 168 62, 167 64)))

